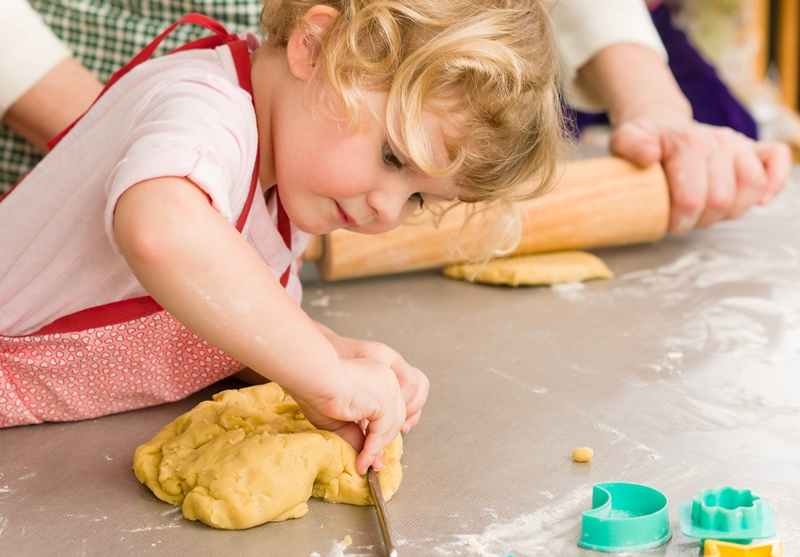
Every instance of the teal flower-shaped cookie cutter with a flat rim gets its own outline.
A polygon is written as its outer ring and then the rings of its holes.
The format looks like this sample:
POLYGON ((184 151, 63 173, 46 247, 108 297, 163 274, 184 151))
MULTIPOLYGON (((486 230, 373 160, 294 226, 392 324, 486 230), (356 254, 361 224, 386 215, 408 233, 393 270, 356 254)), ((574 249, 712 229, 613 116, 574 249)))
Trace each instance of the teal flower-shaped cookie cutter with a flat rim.
POLYGON ((729 486, 701 490, 678 506, 681 530, 690 538, 749 544, 775 535, 772 508, 749 489, 729 486))

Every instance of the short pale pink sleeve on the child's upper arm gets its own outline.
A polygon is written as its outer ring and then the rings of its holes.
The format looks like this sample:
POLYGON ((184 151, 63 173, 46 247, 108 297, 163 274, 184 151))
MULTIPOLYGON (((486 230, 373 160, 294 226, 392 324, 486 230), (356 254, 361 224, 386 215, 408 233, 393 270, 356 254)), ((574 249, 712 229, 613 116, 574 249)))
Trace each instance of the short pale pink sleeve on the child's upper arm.
POLYGON ((106 185, 106 232, 115 249, 117 201, 139 182, 186 177, 234 225, 250 193, 258 131, 247 93, 218 76, 193 73, 150 94, 136 109, 106 185))

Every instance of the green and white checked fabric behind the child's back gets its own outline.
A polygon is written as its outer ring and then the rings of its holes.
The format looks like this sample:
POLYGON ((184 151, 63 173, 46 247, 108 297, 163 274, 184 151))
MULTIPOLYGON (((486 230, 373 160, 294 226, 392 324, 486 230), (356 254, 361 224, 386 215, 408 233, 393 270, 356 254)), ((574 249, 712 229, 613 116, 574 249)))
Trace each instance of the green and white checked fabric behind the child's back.
MULTIPOLYGON (((2 0, 0 0, 2 1, 2 0)), ((75 58, 102 82, 184 15, 205 14, 231 33, 258 30, 260 0, 29 0, 75 58)), ((162 43, 162 55, 208 35, 181 25, 162 43)), ((0 126, 0 194, 17 183, 41 155, 11 129, 0 126)))

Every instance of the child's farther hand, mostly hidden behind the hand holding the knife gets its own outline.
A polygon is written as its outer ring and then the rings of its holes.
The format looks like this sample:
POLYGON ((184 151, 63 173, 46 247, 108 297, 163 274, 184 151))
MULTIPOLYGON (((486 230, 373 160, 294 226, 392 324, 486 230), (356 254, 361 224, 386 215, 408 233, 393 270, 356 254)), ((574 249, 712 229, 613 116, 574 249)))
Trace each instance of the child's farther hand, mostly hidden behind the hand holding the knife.
POLYGON ((340 337, 324 325, 317 323, 317 326, 333 344, 340 358, 373 358, 392 368, 406 404, 406 421, 402 431, 411 431, 419 422, 422 407, 428 398, 430 381, 425 374, 409 365, 400 354, 383 343, 340 337))

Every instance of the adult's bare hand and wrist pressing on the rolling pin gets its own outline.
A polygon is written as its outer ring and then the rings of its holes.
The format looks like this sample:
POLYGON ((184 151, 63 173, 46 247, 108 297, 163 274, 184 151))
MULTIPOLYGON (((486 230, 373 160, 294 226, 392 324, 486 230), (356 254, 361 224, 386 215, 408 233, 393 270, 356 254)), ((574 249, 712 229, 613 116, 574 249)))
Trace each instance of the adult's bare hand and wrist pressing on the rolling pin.
POLYGON ((611 151, 637 164, 663 165, 672 233, 738 218, 788 182, 788 147, 693 120, 669 67, 649 48, 606 47, 578 71, 578 80, 607 108, 611 151))

